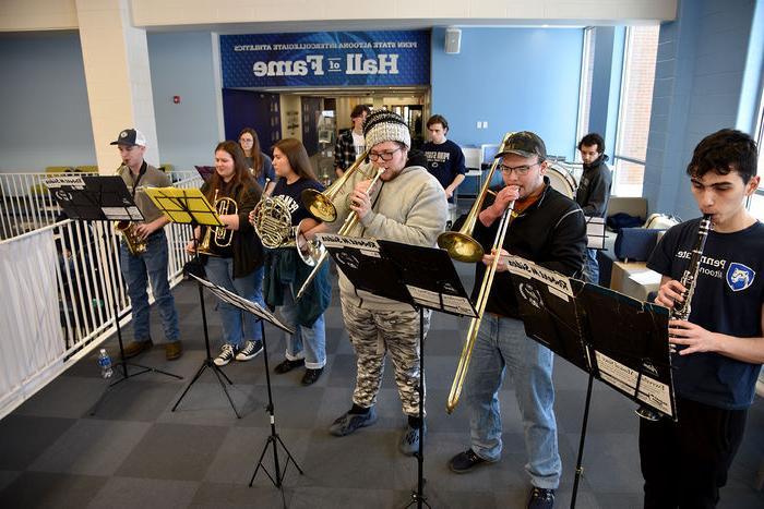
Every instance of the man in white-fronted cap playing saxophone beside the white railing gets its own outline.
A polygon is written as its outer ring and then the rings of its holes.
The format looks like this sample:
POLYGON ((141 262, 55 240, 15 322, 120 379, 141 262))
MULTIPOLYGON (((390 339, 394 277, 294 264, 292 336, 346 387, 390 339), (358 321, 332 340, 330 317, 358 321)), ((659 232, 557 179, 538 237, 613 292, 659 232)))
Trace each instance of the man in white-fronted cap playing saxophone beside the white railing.
POLYGON ((169 222, 151 198, 140 187, 167 187, 171 185, 167 175, 143 160, 146 152, 146 137, 136 129, 126 129, 119 133, 117 145, 122 165, 117 173, 122 178, 135 205, 144 217, 144 222, 135 225, 135 233, 146 241, 145 253, 133 255, 124 241, 120 242, 119 259, 122 275, 128 283, 128 295, 133 313, 133 341, 124 348, 124 356, 130 359, 154 346, 148 324, 148 294, 146 284, 151 281, 154 302, 159 308, 165 332, 165 354, 168 361, 180 357, 183 347, 180 342, 178 312, 167 280, 167 237, 164 227, 169 222))

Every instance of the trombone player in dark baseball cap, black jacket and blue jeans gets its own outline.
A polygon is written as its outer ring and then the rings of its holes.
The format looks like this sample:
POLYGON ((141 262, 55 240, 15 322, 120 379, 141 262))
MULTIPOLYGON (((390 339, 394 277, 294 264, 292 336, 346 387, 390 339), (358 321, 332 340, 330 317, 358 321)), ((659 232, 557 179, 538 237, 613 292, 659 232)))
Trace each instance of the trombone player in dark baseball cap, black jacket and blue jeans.
MULTIPOLYGON (((499 255, 497 275, 488 296, 471 365, 465 381, 470 414, 470 448, 453 457, 452 471, 465 473, 499 461, 501 414, 499 389, 510 372, 524 425, 530 476, 529 508, 551 508, 560 484, 562 463, 558 452, 552 385, 552 352, 525 335, 514 288, 508 271, 510 254, 530 259, 565 276, 580 275, 586 249, 586 221, 571 198, 553 190, 547 172, 547 148, 535 133, 513 133, 499 149, 503 186, 478 216, 473 237, 486 250, 477 264, 474 296, 481 286, 500 218, 512 214, 499 255), (509 208, 512 210, 509 210, 509 208)), ((456 227, 454 227, 456 228, 456 227)))

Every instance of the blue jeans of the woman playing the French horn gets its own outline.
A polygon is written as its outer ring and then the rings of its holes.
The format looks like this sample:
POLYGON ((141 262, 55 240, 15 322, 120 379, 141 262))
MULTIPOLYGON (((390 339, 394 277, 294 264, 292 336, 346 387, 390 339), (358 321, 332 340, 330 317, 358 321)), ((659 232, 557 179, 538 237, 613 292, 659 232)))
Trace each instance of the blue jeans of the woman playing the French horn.
POLYGON ((295 334, 287 337, 286 357, 289 361, 306 360, 306 367, 319 369, 326 365, 326 329, 323 313, 312 327, 297 324, 297 306, 291 294, 291 286, 284 284, 284 305, 277 306, 276 312, 285 324, 295 328, 295 334))

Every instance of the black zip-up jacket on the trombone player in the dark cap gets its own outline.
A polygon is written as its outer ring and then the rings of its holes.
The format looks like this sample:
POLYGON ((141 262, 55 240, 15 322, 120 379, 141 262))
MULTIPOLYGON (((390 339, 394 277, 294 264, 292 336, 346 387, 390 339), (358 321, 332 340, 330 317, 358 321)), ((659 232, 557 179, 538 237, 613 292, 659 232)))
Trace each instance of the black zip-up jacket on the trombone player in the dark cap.
MULTIPOLYGON (((504 250, 510 254, 522 256, 548 269, 565 276, 578 276, 584 265, 586 252, 586 218, 581 207, 568 196, 553 190, 549 179, 544 178, 546 189, 541 197, 522 214, 515 217, 504 237, 504 250)), ((486 197, 484 208, 493 199, 486 197)), ((486 253, 499 231, 497 219, 490 227, 485 227, 478 219, 473 237, 480 242, 486 253)), ((480 291, 486 266, 478 262, 475 270, 473 300, 480 291)), ((497 272, 488 295, 486 311, 500 316, 518 318, 517 301, 509 271, 497 272)))

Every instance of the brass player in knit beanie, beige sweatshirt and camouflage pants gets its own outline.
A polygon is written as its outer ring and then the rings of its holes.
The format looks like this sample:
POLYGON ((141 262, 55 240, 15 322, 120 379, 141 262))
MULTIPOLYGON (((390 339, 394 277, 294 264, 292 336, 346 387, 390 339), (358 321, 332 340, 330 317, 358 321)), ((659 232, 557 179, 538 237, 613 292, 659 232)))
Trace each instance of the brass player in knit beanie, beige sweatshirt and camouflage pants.
MULTIPOLYGON (((433 247, 447 218, 445 193, 427 169, 407 165, 411 145, 408 126, 399 116, 380 110, 367 118, 363 135, 371 163, 354 173, 347 191, 335 199, 336 221, 323 223, 313 232, 336 231, 349 214, 357 214, 357 226, 347 232, 350 237, 433 247), (383 170, 379 181, 369 190, 371 177, 379 170, 383 170)), ((419 449, 420 424, 425 429, 419 422, 417 393, 419 312, 408 304, 357 290, 342 272, 339 295, 345 326, 357 355, 357 378, 353 408, 334 421, 330 432, 345 436, 377 421, 374 403, 385 353, 390 351, 398 396, 407 416, 399 449, 413 455, 419 449)), ((430 312, 426 311, 423 316, 427 334, 430 312)))

